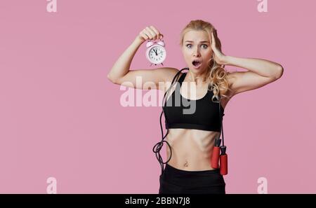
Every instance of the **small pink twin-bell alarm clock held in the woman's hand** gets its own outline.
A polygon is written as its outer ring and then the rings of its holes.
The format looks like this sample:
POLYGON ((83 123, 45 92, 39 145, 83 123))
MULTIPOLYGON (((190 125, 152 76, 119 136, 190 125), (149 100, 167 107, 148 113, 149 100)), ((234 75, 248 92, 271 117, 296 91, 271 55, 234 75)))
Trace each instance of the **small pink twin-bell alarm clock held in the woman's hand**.
MULTIPOLYGON (((162 64, 166 60, 166 49, 164 41, 148 41, 146 43, 146 57, 152 64, 162 64)), ((150 64, 150 66, 152 65, 150 64)), ((164 64, 162 64, 164 65, 164 64)))

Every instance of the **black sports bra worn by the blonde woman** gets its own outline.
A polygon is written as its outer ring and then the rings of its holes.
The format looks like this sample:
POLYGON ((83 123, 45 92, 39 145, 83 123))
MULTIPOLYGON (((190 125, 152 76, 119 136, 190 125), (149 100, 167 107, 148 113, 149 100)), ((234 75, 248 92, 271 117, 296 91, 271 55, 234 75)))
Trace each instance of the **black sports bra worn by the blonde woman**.
MULTIPOLYGON (((212 102, 213 91, 207 90, 201 99, 186 99, 180 88, 187 73, 180 76, 176 90, 164 106, 166 129, 182 128, 220 132, 220 119, 225 115, 219 102, 212 102), (179 85, 180 84, 180 85, 179 85), (219 106, 221 116, 219 112, 219 106)), ((188 88, 190 85, 187 86, 188 88)))

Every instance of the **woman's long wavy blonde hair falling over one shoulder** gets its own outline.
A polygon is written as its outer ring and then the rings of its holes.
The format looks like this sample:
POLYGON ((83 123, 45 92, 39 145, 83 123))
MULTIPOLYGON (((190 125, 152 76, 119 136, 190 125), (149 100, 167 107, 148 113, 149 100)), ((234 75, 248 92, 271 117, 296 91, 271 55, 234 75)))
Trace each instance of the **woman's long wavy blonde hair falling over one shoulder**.
MULTIPOLYGON (((203 20, 192 20, 185 28, 182 30, 180 34, 180 46, 183 46, 183 39, 184 36, 187 32, 191 30, 202 30, 204 32, 207 32, 209 36, 211 36, 211 32, 213 32, 214 38, 215 38, 215 43, 216 43, 216 48, 222 52, 222 45, 220 43, 220 39, 218 39, 217 36, 217 30, 211 23, 209 22, 204 22, 203 20)), ((211 40, 209 40, 211 42, 211 40)), ((207 69, 209 74, 209 90, 213 90, 213 98, 216 97, 217 101, 220 100, 220 98, 226 97, 230 99, 230 97, 226 96, 225 93, 230 90, 230 86, 228 83, 228 78, 227 75, 230 74, 229 71, 226 71, 224 69, 225 65, 219 65, 217 64, 213 57, 211 60, 209 60, 209 68, 207 69)), ((213 101, 214 102, 214 101, 213 101)))

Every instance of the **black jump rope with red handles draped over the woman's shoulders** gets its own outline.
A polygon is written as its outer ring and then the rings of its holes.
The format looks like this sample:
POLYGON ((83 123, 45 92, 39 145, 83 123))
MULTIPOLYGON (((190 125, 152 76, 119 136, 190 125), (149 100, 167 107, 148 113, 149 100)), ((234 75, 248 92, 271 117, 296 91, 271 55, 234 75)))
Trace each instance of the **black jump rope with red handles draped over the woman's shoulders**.
MULTIPOLYGON (((152 151, 155 153, 156 158, 160 164, 160 166, 162 167, 162 174, 164 173, 164 164, 168 163, 169 160, 171 160, 172 157, 172 151, 171 151, 171 146, 169 144, 168 141, 164 140, 164 138, 166 138, 166 136, 169 133, 169 128, 166 128, 166 134, 164 135, 164 131, 162 130, 162 115, 164 114, 164 108, 166 107, 166 95, 169 93, 169 91, 171 90, 171 88, 173 87, 173 83, 178 80, 178 76, 180 75, 180 72, 185 70, 188 68, 184 68, 181 69, 180 71, 177 72, 176 76, 174 76, 172 82, 171 82, 171 86, 168 90, 166 90, 166 92, 164 93, 164 98, 162 99, 162 113, 160 114, 160 130, 162 132, 162 140, 159 141, 157 144, 154 145, 154 147, 152 148, 152 151), (168 160, 166 160, 166 162, 164 162, 164 160, 162 159, 162 155, 160 154, 160 151, 162 150, 162 146, 164 146, 164 142, 166 142, 166 144, 169 146, 170 149, 170 157, 168 160)), ((175 83, 176 84, 176 83, 175 83)), ((221 96, 220 96, 221 99, 221 96)), ((218 108, 219 108, 219 115, 221 115, 220 112, 220 101, 218 101, 218 108)), ((223 113, 223 116, 225 114, 223 113)), ((168 119, 166 117, 166 114, 164 114, 164 118, 165 118, 165 123, 167 124, 168 119)), ((220 139, 220 135, 218 136, 218 138, 215 139, 215 144, 213 147, 213 152, 211 155, 211 167, 213 167, 214 169, 218 169, 218 167, 220 168, 220 174, 225 175, 228 174, 228 155, 226 153, 226 146, 224 145, 224 130, 223 130, 223 118, 220 118, 220 132, 223 138, 223 145, 220 145, 222 139, 220 139), (218 162, 220 163, 220 165, 218 164, 218 162)))

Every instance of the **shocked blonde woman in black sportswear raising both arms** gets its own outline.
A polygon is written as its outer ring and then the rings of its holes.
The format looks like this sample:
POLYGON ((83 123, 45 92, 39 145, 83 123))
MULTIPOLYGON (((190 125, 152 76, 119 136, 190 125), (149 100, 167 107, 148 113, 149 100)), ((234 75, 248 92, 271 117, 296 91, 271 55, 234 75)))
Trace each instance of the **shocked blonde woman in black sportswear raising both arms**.
POLYGON ((268 60, 224 55, 213 25, 203 20, 192 20, 180 38, 187 72, 169 67, 129 70, 139 46, 146 40, 162 37, 163 34, 153 26, 143 29, 115 62, 107 77, 112 83, 136 88, 136 76, 141 76, 143 83, 155 84, 143 85, 142 89, 156 87, 165 92, 164 115, 168 129, 165 137, 169 160, 163 162, 159 155, 163 137, 154 150, 162 165, 159 193, 225 193, 223 175, 218 168, 211 167, 210 162, 215 141, 223 129, 221 119, 225 106, 240 92, 276 81, 282 76, 283 68, 268 60), (225 65, 247 71, 228 72, 223 68, 225 65), (173 102, 176 95, 180 95, 180 106, 173 102), (185 102, 195 104, 193 113, 184 113, 185 102), (163 164, 166 164, 165 169, 163 164))

